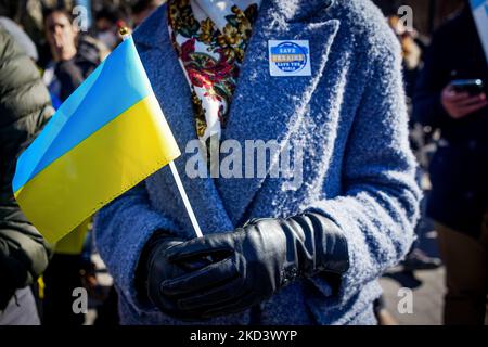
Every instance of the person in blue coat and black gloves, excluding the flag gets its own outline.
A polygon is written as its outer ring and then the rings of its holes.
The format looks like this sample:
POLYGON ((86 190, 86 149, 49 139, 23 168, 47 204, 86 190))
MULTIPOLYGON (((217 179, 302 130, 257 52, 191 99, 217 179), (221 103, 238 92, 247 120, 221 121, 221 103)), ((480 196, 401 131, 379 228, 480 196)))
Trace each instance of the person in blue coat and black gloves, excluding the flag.
POLYGON ((275 140, 303 151, 303 183, 273 177, 275 157, 266 177, 182 175, 200 237, 167 167, 103 207, 95 240, 121 323, 375 324, 377 278, 409 250, 421 195, 400 49, 380 11, 172 0, 133 40, 184 152, 179 172, 194 140, 210 172, 220 143, 275 140))

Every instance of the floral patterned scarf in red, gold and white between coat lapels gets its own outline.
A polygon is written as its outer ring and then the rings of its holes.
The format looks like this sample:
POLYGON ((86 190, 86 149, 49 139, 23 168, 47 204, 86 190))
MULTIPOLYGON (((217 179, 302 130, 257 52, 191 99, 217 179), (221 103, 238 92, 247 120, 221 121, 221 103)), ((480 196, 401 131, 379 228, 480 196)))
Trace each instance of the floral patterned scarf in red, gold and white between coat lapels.
MULTIPOLYGON (((192 91, 196 133, 221 138, 261 0, 172 0, 169 33, 192 91)), ((218 141, 217 141, 218 143, 218 141)))

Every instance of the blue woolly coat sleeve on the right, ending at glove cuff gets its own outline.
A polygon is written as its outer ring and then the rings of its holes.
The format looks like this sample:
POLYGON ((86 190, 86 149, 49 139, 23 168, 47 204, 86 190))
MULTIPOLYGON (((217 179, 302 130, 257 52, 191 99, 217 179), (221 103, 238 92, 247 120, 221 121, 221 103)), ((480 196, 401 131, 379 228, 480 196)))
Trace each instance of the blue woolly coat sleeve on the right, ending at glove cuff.
POLYGON ((313 203, 344 232, 349 269, 338 303, 404 257, 414 239, 421 191, 408 142, 399 48, 390 42, 372 60, 343 164, 343 193, 313 203))

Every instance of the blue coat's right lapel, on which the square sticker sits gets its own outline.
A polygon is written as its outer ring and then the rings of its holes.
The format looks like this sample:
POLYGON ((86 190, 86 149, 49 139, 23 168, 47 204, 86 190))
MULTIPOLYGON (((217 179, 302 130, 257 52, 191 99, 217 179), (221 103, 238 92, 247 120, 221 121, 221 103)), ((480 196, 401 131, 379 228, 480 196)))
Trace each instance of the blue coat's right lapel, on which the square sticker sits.
MULTIPOLYGON (((328 1, 290 9, 291 1, 264 1, 253 36, 244 56, 239 83, 233 95, 229 121, 222 139, 241 143, 245 152, 246 140, 277 140, 285 144, 293 129, 305 121, 307 104, 325 67, 328 54, 338 29, 338 21, 311 23, 310 13, 328 1), (306 22, 305 22, 306 21, 306 22), (270 76, 268 40, 308 40, 311 76, 270 76)), ((299 1, 298 1, 299 2, 299 1)), ((323 13, 323 11, 322 11, 323 13)), ((277 164, 270 158, 267 168, 277 164)), ((244 160, 243 160, 244 162, 244 160)), ((262 184, 264 177, 219 178, 216 181, 226 209, 234 224, 244 222, 246 209, 262 184)), ((244 176, 244 170, 243 170, 244 176)))

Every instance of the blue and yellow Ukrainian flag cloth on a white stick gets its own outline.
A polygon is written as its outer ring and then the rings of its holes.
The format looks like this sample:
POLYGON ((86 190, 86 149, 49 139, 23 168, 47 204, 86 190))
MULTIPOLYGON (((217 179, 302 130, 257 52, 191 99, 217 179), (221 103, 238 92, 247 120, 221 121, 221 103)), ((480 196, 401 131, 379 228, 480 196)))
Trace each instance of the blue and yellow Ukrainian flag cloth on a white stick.
POLYGON ((179 155, 128 38, 21 155, 12 187, 24 214, 54 243, 179 155))

